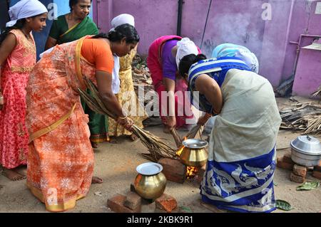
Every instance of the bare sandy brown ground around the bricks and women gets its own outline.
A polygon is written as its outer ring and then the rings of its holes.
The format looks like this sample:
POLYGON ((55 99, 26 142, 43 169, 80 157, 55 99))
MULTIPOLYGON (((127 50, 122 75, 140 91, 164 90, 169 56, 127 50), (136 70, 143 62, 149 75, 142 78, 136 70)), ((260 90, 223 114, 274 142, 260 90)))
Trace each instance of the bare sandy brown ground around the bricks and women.
MULTIPOLYGON (((278 98, 279 107, 289 103, 288 99, 278 98)), ((163 134, 162 127, 149 127, 149 131, 159 137, 172 139, 170 135, 163 134)), ((180 132, 185 134, 185 132, 180 132)), ((299 136, 298 133, 281 130, 277 137, 277 157, 281 157, 290 141, 299 136)), ((93 184, 86 198, 77 202, 73 210, 68 212, 112 212, 107 206, 108 198, 119 193, 128 193, 130 184, 136 177, 136 167, 148 162, 139 154, 146 152, 141 142, 130 142, 126 138, 119 139, 119 144, 100 144, 95 151, 96 167, 94 175, 103 179, 103 184, 93 184)), ((290 171, 277 168, 275 171, 275 197, 288 201, 291 211, 276 210, 282 212, 320 212, 321 211, 321 187, 312 191, 296 191, 299 185, 290 181, 290 171)), ((317 180, 307 174, 308 180, 317 180)), ((192 181, 185 181, 184 184, 177 184, 168 181, 165 194, 169 194, 178 201, 178 211, 189 210, 199 213, 215 212, 215 209, 201 205, 198 185, 192 181)), ((144 205, 143 212, 153 212, 155 205, 144 205)), ((0 176, 0 212, 46 212, 44 204, 41 204, 26 188, 26 180, 9 181, 4 176, 0 176)))

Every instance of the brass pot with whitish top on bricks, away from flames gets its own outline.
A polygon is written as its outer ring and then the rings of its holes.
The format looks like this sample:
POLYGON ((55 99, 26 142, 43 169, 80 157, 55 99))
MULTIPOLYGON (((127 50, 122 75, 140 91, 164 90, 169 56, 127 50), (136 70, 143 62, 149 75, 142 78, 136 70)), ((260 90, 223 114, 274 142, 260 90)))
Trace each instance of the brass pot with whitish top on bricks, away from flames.
POLYGON ((161 172, 161 164, 148 162, 139 165, 136 170, 138 175, 134 186, 137 194, 144 199, 157 199, 164 193, 167 180, 161 172))

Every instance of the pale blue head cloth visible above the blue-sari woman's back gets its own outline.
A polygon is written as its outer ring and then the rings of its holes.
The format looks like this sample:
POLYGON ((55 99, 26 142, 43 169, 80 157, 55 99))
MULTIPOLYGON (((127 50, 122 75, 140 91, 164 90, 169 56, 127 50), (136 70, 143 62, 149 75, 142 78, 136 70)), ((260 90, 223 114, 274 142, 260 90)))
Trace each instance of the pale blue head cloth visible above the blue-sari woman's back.
POLYGON ((212 53, 212 58, 236 57, 245 62, 250 69, 258 73, 258 58, 245 46, 235 45, 232 43, 223 43, 217 46, 212 53))

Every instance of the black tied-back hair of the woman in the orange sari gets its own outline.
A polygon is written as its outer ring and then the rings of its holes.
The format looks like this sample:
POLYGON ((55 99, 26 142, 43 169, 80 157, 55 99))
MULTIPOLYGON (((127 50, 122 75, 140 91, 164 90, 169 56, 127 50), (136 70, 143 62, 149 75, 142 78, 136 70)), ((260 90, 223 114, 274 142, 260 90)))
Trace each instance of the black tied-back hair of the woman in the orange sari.
POLYGON ((140 39, 136 28, 131 26, 129 23, 117 26, 107 34, 100 33, 93 36, 93 38, 108 38, 111 42, 121 42, 123 38, 126 38, 126 43, 138 43, 140 39))

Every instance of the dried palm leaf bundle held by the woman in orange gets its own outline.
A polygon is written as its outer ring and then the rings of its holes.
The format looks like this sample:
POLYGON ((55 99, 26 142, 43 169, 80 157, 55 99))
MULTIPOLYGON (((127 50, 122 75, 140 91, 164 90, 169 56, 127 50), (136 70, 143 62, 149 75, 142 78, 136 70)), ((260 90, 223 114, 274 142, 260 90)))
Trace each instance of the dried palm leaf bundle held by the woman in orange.
MULTIPOLYGON (((78 88, 78 91, 88 107, 101 115, 108 115, 108 117, 117 121, 117 116, 108 110, 108 107, 103 104, 96 85, 86 77, 84 77, 84 82, 87 88, 91 90, 92 95, 88 95, 86 91, 81 90, 80 88, 78 88)), ((143 145, 147 147, 150 152, 150 154, 141 154, 143 157, 151 160, 152 162, 158 162, 161 158, 175 159, 175 150, 169 147, 168 144, 165 144, 163 139, 156 137, 154 134, 151 134, 151 132, 141 129, 137 125, 133 125, 131 129, 133 134, 141 139, 143 145)))

